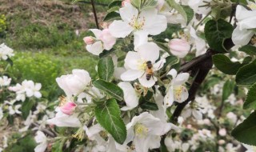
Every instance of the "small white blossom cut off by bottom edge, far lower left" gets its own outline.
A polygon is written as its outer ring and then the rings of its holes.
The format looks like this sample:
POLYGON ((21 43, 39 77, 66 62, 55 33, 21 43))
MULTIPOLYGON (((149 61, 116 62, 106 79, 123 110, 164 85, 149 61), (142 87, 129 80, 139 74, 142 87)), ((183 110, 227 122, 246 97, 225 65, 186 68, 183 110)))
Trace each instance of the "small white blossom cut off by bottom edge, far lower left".
POLYGON ((38 146, 34 148, 35 152, 44 152, 47 148, 47 138, 42 131, 38 131, 37 135, 34 137, 35 142, 39 143, 38 146))

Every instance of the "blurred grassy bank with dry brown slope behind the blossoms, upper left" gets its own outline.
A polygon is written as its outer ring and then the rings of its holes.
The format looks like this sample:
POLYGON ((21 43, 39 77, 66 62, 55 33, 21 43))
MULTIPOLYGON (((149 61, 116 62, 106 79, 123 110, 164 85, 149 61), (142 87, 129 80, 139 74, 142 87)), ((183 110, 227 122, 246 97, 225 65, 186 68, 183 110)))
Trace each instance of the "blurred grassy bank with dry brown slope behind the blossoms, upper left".
MULTIPOLYGON (((102 21, 111 0, 96 0, 102 21)), ((8 73, 15 82, 31 79, 42 83, 45 98, 61 94, 55 78, 85 69, 95 77, 97 57, 86 52, 83 37, 95 28, 90 1, 0 0, 0 43, 14 49, 14 66, 8 73)))

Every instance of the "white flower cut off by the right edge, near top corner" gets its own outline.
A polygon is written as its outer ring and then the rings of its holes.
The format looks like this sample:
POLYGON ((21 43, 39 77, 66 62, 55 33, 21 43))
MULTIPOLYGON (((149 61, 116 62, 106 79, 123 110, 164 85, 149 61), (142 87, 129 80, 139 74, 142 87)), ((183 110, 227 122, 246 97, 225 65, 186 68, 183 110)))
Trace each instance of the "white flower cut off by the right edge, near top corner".
POLYGON ((246 10, 243 6, 238 5, 235 16, 238 22, 232 34, 232 41, 235 45, 244 46, 256 33, 256 10, 246 10))

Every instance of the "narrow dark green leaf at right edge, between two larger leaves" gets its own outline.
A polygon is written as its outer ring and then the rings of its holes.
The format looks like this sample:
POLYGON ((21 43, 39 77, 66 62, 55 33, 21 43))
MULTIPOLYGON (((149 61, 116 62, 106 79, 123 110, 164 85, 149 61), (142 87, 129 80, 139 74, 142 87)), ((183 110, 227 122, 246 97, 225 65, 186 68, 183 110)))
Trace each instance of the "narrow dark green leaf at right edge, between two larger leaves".
POLYGON ((256 83, 253 86, 250 86, 250 90, 246 95, 246 102, 243 104, 244 109, 253 108, 256 110, 256 83))

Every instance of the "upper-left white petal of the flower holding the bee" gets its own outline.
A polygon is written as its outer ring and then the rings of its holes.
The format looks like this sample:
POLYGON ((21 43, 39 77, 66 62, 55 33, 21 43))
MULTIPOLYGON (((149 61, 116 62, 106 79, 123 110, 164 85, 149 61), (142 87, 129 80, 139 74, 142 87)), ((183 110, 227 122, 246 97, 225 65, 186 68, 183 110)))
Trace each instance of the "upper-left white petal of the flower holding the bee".
POLYGON ((141 59, 142 58, 138 52, 129 51, 128 54, 126 54, 125 65, 131 70, 138 70, 139 61, 141 59))

